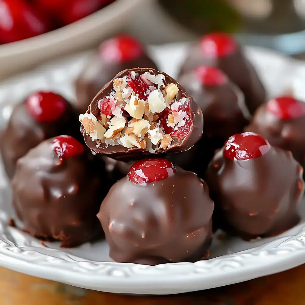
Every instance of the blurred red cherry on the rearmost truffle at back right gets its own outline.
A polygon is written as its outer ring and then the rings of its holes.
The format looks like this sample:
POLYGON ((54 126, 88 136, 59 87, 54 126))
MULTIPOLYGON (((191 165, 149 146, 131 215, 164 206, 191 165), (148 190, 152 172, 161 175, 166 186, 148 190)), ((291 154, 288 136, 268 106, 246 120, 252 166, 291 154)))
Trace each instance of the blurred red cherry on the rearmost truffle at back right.
POLYGON ((211 33, 201 38, 200 47, 204 56, 218 58, 234 53, 238 48, 238 44, 228 34, 211 33))

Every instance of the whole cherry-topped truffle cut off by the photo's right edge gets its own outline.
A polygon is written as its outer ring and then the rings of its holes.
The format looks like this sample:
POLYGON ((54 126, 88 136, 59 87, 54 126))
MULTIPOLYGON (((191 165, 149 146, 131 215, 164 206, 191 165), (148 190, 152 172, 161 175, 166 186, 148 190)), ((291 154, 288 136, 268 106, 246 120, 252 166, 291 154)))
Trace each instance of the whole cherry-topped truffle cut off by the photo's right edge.
POLYGON ((305 167, 305 103, 290 96, 282 96, 257 109, 246 131, 257 132, 268 142, 290 150, 305 167))

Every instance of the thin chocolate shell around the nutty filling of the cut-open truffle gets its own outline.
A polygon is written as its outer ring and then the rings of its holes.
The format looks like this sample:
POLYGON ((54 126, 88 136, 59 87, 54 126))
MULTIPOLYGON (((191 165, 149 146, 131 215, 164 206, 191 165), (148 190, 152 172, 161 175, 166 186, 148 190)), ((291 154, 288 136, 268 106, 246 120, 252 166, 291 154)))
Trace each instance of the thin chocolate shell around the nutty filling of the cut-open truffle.
MULTIPOLYGON (((177 94, 177 99, 186 98, 189 100, 189 106, 193 115, 192 118, 192 126, 190 128, 190 131, 186 135, 184 139, 173 139, 172 144, 169 148, 159 148, 156 151, 156 154, 158 153, 175 153, 175 152, 181 152, 190 149, 192 146, 195 145, 195 143, 201 138, 202 132, 203 132, 203 115, 198 107, 198 105, 193 101, 193 99, 185 92, 185 90, 181 87, 181 85, 174 80, 172 77, 167 75, 164 72, 159 72, 156 70, 152 70, 150 68, 134 68, 130 70, 124 70, 117 74, 116 77, 113 78, 121 78, 128 74, 130 71, 135 71, 136 73, 139 73, 140 75, 144 74, 145 72, 149 72, 150 74, 163 74, 165 77, 165 84, 174 83, 178 86, 179 92, 177 94)), ((89 109, 87 113, 93 114, 95 117, 99 115, 99 108, 98 103, 99 100, 106 97, 110 94, 111 89, 113 88, 113 80, 110 81, 92 100, 89 109)), ((115 145, 111 146, 108 145, 106 147, 105 143, 102 143, 99 147, 96 147, 96 142, 91 141, 91 138, 86 134, 86 131, 84 130, 84 127, 81 126, 81 132, 84 135, 84 140, 87 144, 87 146, 92 149, 93 151, 97 153, 106 154, 107 156, 117 159, 117 160, 124 160, 124 161, 130 161, 130 160, 136 160, 141 156, 143 158, 143 155, 151 155, 149 151, 146 149, 138 148, 138 147, 132 147, 132 148, 126 148, 123 145, 115 145)))

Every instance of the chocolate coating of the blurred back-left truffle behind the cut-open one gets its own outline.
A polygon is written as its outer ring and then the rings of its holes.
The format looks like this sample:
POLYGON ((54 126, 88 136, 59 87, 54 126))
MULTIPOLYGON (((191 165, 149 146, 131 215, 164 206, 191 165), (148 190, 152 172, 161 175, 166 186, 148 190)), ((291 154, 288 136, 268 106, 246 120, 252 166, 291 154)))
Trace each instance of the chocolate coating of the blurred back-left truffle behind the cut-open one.
POLYGON ((150 67, 157 69, 156 64, 143 53, 137 59, 121 61, 117 63, 106 61, 98 53, 93 54, 84 69, 75 80, 76 100, 75 108, 80 113, 88 110, 92 99, 119 71, 134 67, 150 67))

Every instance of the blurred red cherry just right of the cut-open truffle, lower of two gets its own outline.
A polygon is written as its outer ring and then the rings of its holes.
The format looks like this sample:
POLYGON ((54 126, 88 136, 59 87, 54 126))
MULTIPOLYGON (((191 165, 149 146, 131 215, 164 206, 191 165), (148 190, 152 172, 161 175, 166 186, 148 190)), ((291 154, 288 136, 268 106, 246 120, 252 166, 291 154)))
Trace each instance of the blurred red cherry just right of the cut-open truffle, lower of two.
POLYGON ((201 84, 205 86, 219 86, 228 82, 224 73, 212 66, 200 66, 195 73, 201 84))

